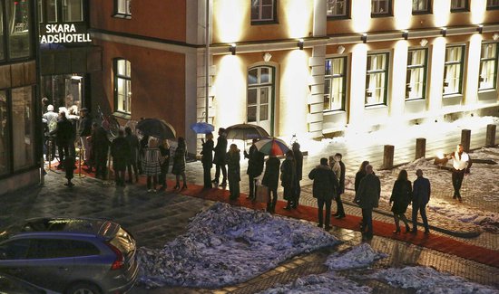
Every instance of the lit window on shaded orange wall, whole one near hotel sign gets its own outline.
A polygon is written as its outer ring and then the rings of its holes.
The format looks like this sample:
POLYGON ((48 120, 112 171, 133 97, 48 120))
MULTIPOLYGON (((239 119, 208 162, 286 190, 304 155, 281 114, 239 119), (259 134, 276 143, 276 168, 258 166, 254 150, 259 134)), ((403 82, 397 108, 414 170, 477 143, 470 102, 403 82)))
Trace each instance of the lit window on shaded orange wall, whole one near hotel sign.
POLYGON ((132 112, 131 64, 124 59, 114 60, 114 109, 130 114, 132 112))

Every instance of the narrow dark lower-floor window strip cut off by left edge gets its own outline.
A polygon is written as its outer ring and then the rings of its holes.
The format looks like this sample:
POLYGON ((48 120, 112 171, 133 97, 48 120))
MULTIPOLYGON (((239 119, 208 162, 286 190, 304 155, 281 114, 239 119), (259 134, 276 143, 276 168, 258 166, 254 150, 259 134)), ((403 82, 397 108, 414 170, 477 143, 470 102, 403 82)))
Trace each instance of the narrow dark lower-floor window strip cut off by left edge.
POLYGON ((9 166, 9 110, 7 103, 7 92, 0 91, 0 175, 8 174, 9 166))

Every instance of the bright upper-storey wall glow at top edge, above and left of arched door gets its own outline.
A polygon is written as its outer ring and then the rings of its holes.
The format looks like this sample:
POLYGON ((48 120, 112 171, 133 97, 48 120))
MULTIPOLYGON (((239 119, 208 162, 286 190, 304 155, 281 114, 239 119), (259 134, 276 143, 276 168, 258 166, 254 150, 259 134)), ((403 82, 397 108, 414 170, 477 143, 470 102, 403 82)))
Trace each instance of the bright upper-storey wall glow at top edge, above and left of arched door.
POLYGON ((213 10, 213 15, 217 15, 213 20, 214 35, 220 38, 220 42, 240 41, 249 5, 241 5, 237 0, 217 0, 213 2, 213 10))

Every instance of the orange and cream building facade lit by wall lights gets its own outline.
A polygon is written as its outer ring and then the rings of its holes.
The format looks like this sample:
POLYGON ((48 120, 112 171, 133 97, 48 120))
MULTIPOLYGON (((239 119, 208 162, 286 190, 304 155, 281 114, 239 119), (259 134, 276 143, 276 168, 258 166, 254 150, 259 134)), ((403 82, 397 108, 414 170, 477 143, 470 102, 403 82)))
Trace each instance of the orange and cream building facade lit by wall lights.
POLYGON ((498 115, 496 0, 91 4, 93 103, 169 121, 192 153, 200 120, 320 137, 498 115))

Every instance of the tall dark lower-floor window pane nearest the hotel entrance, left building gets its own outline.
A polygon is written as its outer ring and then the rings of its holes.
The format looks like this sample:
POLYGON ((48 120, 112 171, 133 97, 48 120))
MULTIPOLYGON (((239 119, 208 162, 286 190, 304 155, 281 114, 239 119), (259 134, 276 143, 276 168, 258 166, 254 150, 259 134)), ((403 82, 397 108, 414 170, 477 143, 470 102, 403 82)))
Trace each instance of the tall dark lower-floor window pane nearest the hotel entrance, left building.
POLYGON ((34 166, 33 87, 12 90, 14 170, 34 166))

